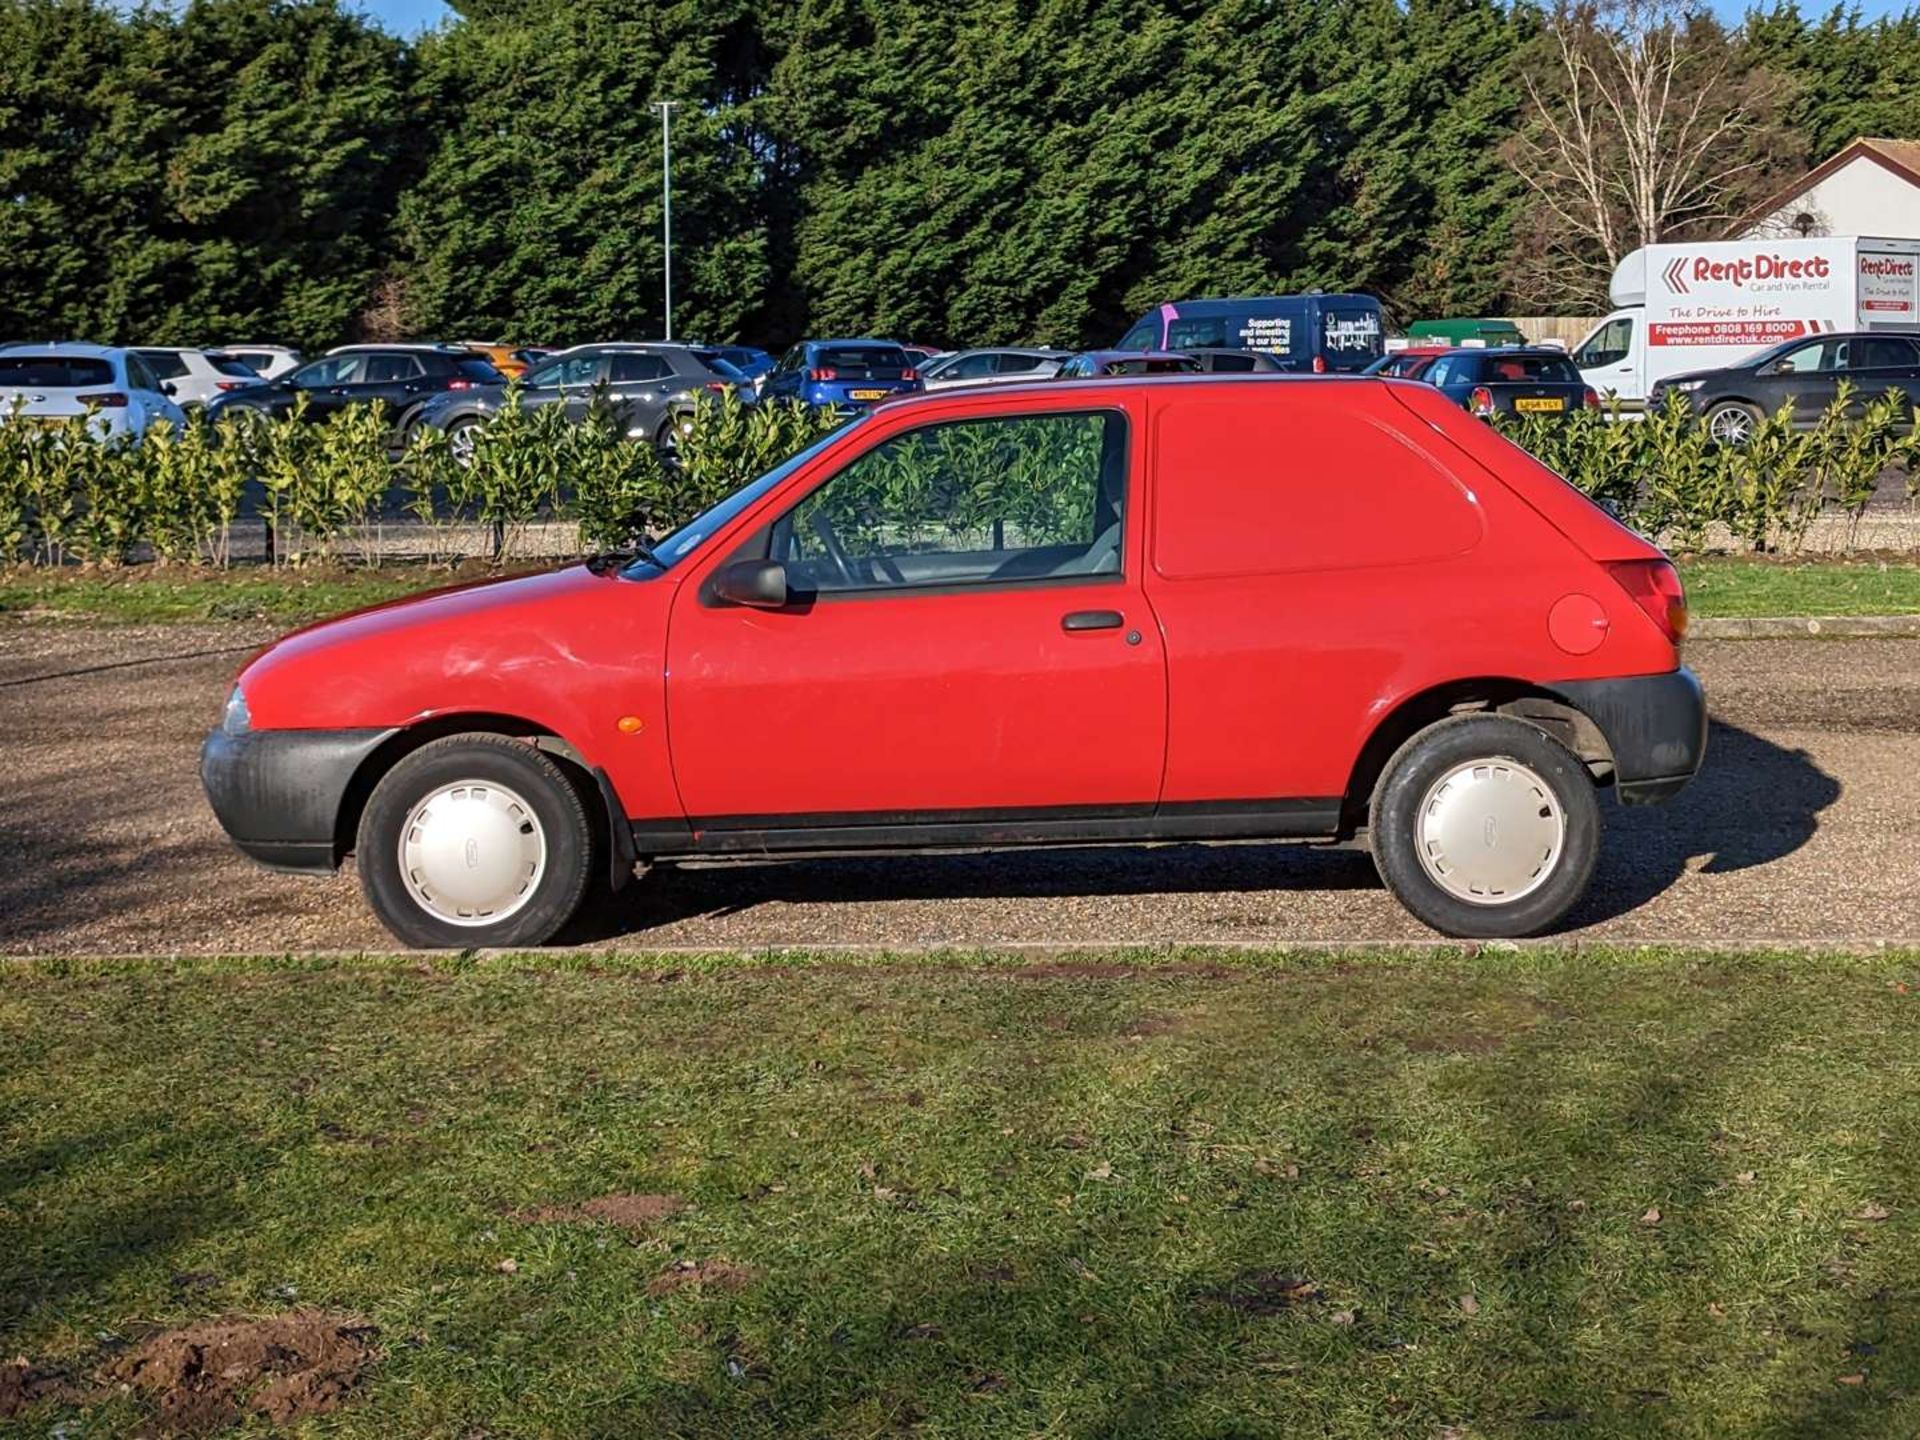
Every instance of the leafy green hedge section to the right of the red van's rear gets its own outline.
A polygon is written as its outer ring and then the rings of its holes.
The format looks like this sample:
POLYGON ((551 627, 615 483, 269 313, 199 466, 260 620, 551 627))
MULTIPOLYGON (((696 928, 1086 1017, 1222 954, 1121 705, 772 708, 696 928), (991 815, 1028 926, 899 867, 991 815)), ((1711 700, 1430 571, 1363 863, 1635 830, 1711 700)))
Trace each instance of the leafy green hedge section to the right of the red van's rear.
POLYGON ((1580 411, 1501 420, 1501 430, 1672 549, 1697 551, 1724 526, 1736 543, 1784 551, 1797 549, 1822 515, 1847 518, 1851 549, 1889 468, 1905 470, 1908 497, 1920 490, 1912 420, 1899 394, 1860 405, 1841 382, 1812 428, 1795 430, 1791 405, 1782 405, 1745 445, 1715 444, 1680 396, 1642 420, 1580 411))

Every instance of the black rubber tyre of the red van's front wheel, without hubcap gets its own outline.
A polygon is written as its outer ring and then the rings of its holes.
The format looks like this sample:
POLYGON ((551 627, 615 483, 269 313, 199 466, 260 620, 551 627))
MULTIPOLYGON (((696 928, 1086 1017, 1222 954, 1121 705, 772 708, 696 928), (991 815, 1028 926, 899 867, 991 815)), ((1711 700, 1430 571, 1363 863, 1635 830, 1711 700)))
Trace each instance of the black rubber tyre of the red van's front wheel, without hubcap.
MULTIPOLYGON (((394 935, 419 948, 545 945, 574 912, 595 874, 593 824, 580 789, 553 756, 509 735, 447 735, 413 751, 374 785, 361 812, 355 856, 367 904, 394 935), (442 787, 497 785, 520 797, 545 839, 538 879, 511 912, 459 922, 415 899, 401 874, 401 829, 415 804, 442 787)), ((468 862, 472 864, 472 862, 468 862)))

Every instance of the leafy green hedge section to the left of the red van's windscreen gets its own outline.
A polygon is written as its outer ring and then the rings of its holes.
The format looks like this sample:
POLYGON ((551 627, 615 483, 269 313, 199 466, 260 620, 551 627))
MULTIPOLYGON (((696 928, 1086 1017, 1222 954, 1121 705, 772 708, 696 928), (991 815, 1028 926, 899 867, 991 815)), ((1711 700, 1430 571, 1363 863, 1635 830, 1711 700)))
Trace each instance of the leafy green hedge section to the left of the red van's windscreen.
POLYGON ((693 411, 678 461, 662 463, 605 405, 578 424, 559 405, 507 405, 463 467, 426 426, 396 455, 378 407, 326 424, 298 413, 194 417, 180 434, 156 430, 140 444, 98 444, 84 419, 15 420, 0 424, 0 561, 121 564, 144 543, 163 563, 227 564, 248 482, 259 484, 280 563, 298 557, 290 536, 332 553, 369 540, 396 509, 420 522, 419 549, 434 559, 472 526, 490 532, 495 559, 511 557, 536 520, 576 522, 580 549, 618 549, 697 515, 837 422, 801 405, 710 399, 693 411))

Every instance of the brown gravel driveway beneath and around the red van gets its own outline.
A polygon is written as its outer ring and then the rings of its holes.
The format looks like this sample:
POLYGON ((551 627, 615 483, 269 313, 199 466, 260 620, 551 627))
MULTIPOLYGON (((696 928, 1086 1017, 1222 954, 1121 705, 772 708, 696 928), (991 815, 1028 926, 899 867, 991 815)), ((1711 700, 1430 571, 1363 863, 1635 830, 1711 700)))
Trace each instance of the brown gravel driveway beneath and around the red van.
MULTIPOLYGON (((351 872, 273 876, 196 756, 259 626, 0 622, 0 948, 392 948, 351 872), (52 676, 52 678, 42 678, 52 676)), ((1715 733, 1676 803, 1607 806, 1574 933, 1920 937, 1920 639, 1690 647, 1715 733)), ((1098 849, 660 870, 588 914, 634 947, 1430 939, 1365 854, 1098 849)))

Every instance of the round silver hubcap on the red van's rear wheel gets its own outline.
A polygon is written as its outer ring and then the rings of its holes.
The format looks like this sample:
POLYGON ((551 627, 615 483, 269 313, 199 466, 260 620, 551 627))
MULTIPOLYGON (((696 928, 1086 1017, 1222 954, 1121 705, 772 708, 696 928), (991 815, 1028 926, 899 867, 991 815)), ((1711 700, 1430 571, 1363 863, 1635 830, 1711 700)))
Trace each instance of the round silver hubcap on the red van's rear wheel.
POLYGON ((1469 760, 1427 789, 1415 847, 1428 879, 1453 899, 1513 904, 1553 874, 1567 816, 1519 760, 1469 760))

